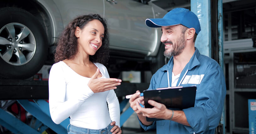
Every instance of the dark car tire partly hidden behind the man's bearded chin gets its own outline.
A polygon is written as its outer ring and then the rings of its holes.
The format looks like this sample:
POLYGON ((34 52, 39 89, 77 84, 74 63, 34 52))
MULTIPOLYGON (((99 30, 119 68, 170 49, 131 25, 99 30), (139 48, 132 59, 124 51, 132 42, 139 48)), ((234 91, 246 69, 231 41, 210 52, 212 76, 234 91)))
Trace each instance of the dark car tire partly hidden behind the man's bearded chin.
POLYGON ((164 44, 161 43, 155 61, 150 64, 150 71, 152 72, 152 74, 154 74, 159 68, 163 67, 169 62, 170 57, 165 57, 164 51, 164 44))

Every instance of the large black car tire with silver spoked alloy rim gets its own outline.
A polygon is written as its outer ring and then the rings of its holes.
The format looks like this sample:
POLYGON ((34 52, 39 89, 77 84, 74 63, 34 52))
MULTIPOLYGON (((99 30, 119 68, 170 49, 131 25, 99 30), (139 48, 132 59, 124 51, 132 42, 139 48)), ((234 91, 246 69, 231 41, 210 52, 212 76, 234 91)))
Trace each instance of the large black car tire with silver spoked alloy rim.
POLYGON ((47 56, 47 37, 40 22, 20 8, 0 8, 0 77, 35 75, 47 56))

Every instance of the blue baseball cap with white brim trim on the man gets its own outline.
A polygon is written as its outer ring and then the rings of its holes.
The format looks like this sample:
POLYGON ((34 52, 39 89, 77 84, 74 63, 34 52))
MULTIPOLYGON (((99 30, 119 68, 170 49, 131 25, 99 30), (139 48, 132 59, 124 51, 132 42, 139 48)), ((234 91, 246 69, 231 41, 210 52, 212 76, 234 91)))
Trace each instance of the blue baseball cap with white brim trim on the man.
POLYGON ((166 13, 163 18, 146 19, 148 27, 173 26, 181 24, 188 28, 195 28, 196 34, 201 31, 198 17, 186 8, 174 8, 166 13))

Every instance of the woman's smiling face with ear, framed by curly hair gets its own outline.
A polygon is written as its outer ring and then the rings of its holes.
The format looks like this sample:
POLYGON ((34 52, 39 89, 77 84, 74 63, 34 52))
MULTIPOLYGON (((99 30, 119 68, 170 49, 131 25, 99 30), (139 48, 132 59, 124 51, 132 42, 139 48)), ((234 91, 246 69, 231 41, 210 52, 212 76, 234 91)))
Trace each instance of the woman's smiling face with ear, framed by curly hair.
POLYGON ((94 19, 88 22, 83 29, 76 27, 75 36, 78 42, 78 52, 94 55, 102 46, 104 26, 99 20, 94 19))

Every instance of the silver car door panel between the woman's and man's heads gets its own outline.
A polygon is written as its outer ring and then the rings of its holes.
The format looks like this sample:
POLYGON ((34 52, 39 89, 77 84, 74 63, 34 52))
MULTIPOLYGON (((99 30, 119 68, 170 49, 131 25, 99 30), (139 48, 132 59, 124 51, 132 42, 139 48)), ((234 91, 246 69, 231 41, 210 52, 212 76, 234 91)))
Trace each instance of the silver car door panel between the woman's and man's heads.
POLYGON ((150 5, 132 0, 117 0, 116 4, 105 1, 105 18, 110 33, 110 48, 147 53, 154 47, 154 28, 147 27, 145 20, 153 18, 150 5))

